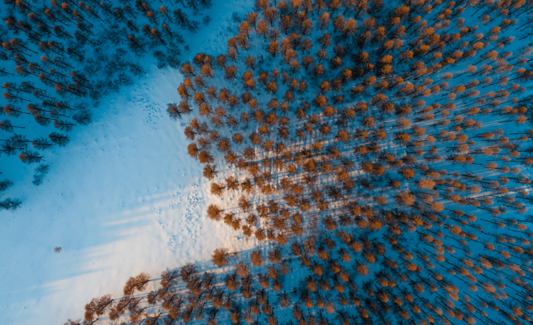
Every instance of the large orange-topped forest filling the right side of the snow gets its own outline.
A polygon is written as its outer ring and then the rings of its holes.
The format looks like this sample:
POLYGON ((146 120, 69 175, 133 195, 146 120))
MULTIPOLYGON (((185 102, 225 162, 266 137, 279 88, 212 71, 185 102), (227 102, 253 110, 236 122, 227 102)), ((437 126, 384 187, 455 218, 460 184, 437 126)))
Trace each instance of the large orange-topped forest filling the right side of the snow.
POLYGON ((206 215, 262 244, 65 324, 530 323, 532 26, 522 0, 256 0, 167 111, 236 197, 206 215))

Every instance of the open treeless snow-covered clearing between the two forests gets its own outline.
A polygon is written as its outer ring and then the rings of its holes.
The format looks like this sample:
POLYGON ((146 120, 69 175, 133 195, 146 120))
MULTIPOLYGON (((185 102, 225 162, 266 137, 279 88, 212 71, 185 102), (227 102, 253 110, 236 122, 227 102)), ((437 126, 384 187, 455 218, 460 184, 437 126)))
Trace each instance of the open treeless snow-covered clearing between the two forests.
MULTIPOLYGON (((187 39, 191 51, 183 56, 223 51, 217 42, 227 38, 231 14, 251 6, 214 2, 211 23, 187 39)), ((2 214, 2 324, 82 318, 91 298, 122 295, 140 272, 158 278, 166 267, 209 259, 215 248, 254 246, 205 216, 213 200, 208 183, 187 155, 183 126, 166 113, 167 103, 179 101, 181 76, 146 68, 135 86, 94 109, 92 123, 76 128, 67 147, 54 149, 42 185, 31 184, 31 168, 13 179, 9 196, 23 205, 2 214)))

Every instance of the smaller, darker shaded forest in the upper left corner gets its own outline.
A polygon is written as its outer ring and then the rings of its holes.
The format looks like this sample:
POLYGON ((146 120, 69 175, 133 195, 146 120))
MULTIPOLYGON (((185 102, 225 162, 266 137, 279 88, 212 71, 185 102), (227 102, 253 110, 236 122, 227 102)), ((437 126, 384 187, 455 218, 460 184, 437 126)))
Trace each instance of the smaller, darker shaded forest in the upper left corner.
MULTIPOLYGON (((50 167, 46 156, 70 142, 72 129, 91 122, 102 99, 146 73, 145 55, 158 68, 181 66, 188 48, 182 35, 208 23, 209 17, 199 22, 194 16, 209 7, 211 0, 4 0, 2 165, 16 164, 10 156, 27 168, 37 165, 33 184, 41 184, 50 167)), ((0 210, 22 204, 3 195, 12 184, 9 178, 0 183, 0 210)))

